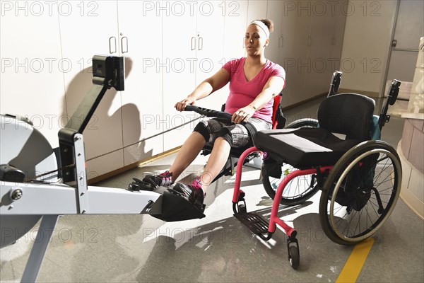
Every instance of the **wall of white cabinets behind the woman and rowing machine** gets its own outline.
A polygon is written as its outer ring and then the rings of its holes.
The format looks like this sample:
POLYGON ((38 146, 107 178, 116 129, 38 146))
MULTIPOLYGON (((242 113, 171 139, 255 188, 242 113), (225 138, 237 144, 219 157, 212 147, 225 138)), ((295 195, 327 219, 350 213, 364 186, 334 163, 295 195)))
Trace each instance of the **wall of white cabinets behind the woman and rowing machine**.
MULTIPOLYGON (((192 120, 173 105, 218 71, 199 62, 219 68, 242 57, 246 25, 256 18, 276 25, 266 57, 287 71, 282 104, 328 91, 338 67, 317 70, 310 62, 340 57, 345 1, 329 2, 336 13, 324 1, 1 1, 0 113, 28 117, 56 147, 57 132, 91 86, 91 57, 124 56, 125 91, 108 91, 84 132, 88 178, 134 166, 183 143, 194 123, 119 149, 192 120)), ((224 88, 199 105, 220 108, 227 95, 224 88)))

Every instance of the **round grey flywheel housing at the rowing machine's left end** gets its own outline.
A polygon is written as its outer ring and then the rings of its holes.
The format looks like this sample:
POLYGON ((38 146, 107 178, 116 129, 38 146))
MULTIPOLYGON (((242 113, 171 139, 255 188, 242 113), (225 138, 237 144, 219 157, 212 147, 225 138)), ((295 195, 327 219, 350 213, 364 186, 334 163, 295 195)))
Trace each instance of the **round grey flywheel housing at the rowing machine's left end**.
MULTIPOLYGON (((25 185, 45 172, 57 170, 57 159, 49 141, 25 117, 0 115, 1 182, 25 185)), ((57 172, 37 178, 57 182, 57 172)), ((0 200, 0 206, 8 205, 0 200)), ((37 224, 40 215, 0 215, 0 248, 15 243, 37 224)))

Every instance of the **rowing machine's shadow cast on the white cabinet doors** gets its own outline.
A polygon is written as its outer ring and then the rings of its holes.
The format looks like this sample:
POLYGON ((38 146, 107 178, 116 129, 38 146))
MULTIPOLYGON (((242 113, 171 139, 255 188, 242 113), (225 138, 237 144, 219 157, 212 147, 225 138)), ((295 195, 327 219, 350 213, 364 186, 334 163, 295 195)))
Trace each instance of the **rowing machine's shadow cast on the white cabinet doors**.
MULTIPOLYGON (((132 65, 132 60, 125 58, 126 78, 131 73, 132 65)), ((83 97, 90 90, 93 85, 92 79, 93 69, 90 67, 78 72, 68 84, 61 116, 66 117, 66 120, 61 121, 62 126, 66 125, 66 122, 78 108, 83 97)), ((107 157, 94 158, 93 161, 90 161, 91 164, 88 163, 88 167, 90 165, 93 167, 88 168, 88 179, 151 156, 152 151, 145 152, 143 143, 130 146, 124 151, 114 151, 122 148, 122 146, 139 141, 142 134, 139 109, 132 103, 122 105, 121 95, 128 94, 118 92, 114 88, 108 90, 83 132, 87 160, 110 153, 107 154, 107 157), (96 159, 98 160, 96 161, 96 159), (93 172, 94 168, 95 172, 93 172)))

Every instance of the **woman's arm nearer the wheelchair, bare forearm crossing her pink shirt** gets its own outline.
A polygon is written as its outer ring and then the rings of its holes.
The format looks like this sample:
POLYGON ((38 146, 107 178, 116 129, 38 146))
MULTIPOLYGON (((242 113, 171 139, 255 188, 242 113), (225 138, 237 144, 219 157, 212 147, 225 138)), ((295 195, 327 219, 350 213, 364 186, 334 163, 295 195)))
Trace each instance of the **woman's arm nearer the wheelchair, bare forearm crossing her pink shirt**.
POLYGON ((283 90, 284 87, 284 79, 280 76, 271 76, 269 80, 266 82, 264 88, 261 93, 255 98, 252 103, 245 106, 244 108, 240 108, 235 111, 232 115, 232 122, 239 124, 243 121, 246 121, 255 111, 261 109, 271 100, 274 96, 278 96, 278 94, 283 90))

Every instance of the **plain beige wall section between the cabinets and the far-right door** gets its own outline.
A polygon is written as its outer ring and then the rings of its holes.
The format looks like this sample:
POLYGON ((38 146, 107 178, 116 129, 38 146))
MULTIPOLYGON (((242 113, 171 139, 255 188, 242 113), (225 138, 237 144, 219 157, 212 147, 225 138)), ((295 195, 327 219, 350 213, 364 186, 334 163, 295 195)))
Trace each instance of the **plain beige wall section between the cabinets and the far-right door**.
POLYGON ((352 1, 346 6, 341 88, 378 96, 384 83, 395 0, 352 1))

